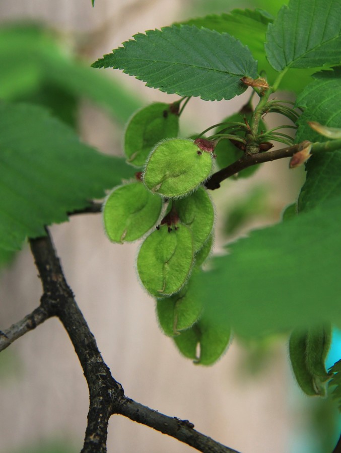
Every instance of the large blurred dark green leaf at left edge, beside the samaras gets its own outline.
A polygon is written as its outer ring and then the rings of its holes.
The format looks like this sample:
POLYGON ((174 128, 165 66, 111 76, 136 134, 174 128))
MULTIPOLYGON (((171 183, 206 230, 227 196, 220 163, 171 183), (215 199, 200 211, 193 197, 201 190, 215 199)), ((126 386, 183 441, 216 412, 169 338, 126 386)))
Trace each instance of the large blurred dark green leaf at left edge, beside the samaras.
POLYGON ((44 225, 101 198, 131 176, 122 159, 101 155, 36 106, 0 104, 0 247, 20 249, 44 225))

